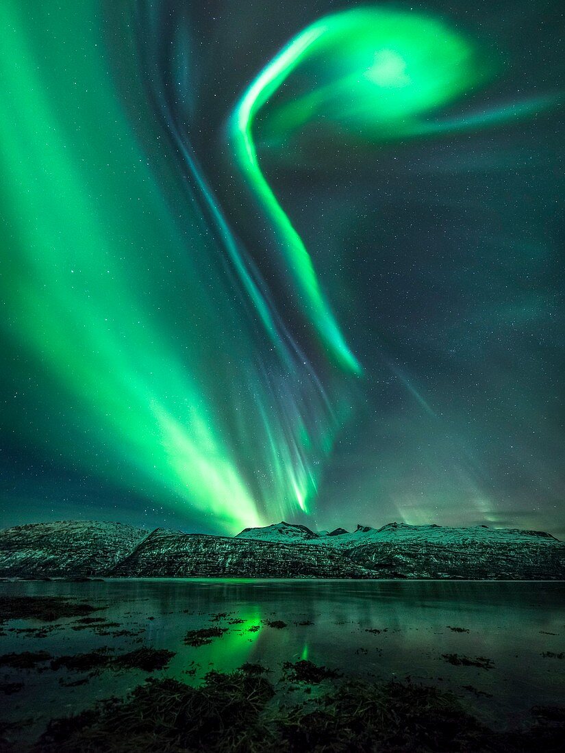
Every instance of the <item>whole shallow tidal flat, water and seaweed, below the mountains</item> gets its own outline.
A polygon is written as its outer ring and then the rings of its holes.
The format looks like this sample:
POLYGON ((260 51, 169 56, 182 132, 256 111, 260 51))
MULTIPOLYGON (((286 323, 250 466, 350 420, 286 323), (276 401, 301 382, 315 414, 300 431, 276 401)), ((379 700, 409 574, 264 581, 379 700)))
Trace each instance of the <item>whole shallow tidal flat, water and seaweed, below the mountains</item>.
POLYGON ((0 750, 558 750, 564 596, 560 582, 5 581, 0 750))

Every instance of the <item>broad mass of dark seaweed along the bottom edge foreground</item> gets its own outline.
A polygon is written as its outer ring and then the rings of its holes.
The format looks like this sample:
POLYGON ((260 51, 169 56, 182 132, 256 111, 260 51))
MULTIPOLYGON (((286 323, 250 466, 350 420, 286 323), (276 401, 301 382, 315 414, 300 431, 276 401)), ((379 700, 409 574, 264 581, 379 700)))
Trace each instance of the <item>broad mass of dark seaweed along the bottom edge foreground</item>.
MULTIPOLYGON (((293 666, 293 665, 291 665, 293 666)), ((318 668, 321 669, 321 668, 318 668)), ((50 721, 35 753, 525 753, 562 749, 565 709, 533 709, 525 727, 496 733, 453 694, 392 681, 343 681, 294 705, 242 669, 203 685, 150 679, 124 700, 50 721), (560 747, 561 746, 561 747, 560 747)))

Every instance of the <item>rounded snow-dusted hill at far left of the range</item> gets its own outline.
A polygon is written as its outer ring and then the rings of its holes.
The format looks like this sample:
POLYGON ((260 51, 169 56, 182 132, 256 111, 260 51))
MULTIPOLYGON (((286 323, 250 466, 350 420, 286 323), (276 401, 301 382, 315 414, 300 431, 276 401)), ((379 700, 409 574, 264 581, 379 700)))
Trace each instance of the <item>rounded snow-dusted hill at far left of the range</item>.
POLYGON ((145 529, 96 520, 8 528, 0 531, 0 577, 100 575, 148 535, 145 529))

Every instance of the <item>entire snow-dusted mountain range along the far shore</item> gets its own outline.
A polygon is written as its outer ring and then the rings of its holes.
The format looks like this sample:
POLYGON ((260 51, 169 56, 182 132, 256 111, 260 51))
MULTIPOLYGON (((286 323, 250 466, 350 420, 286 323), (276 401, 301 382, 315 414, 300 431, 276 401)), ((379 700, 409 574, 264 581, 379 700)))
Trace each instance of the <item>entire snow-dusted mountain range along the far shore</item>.
POLYGON ((93 521, 0 531, 2 577, 93 575, 564 580, 565 543, 540 531, 405 523, 315 533, 281 521, 234 538, 93 521))

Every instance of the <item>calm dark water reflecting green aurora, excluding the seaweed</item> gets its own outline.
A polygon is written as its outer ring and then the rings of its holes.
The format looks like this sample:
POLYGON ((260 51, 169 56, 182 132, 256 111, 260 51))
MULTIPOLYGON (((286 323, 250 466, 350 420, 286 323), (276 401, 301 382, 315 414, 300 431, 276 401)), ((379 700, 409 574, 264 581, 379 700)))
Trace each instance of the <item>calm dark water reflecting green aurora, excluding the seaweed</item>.
MULTIPOLYGON (((0 654, 47 651, 53 656, 111 646, 116 652, 139 646, 175 651, 156 677, 198 682, 209 669, 231 671, 257 662, 277 681, 284 661, 307 658, 347 675, 376 680, 405 679, 435 684, 463 697, 494 727, 518 724, 537 704, 565 702, 565 661, 542 657, 565 650, 565 584, 447 581, 238 581, 115 580, 72 583, 0 584, 2 596, 65 596, 103 606, 93 616, 119 623, 101 636, 92 628, 72 630, 76 618, 54 623, 41 638, 21 628, 35 620, 5 623, 0 654), (218 613, 226 619, 210 622, 218 613), (243 623, 229 625, 230 619, 243 623), (262 620, 282 620, 282 630, 262 620), (312 623, 312 624, 301 624, 312 623), (192 648, 188 630, 228 626, 211 645, 192 648), (256 632, 249 627, 259 625, 256 632), (457 633, 450 627, 468 633, 457 633), (140 631, 116 637, 119 630, 140 631), (368 633, 381 630, 381 633, 368 633), (442 654, 487 657, 492 669, 453 666, 442 654), (195 670, 195 671, 194 671, 195 670), (472 686, 478 694, 469 690, 472 686)), ((48 667, 48 665, 47 665, 48 667)), ((86 678, 61 669, 0 667, 2 681, 23 689, 2 697, 2 719, 29 720, 23 739, 35 739, 50 718, 78 712, 94 700, 126 694, 147 673, 102 671, 75 687, 61 684, 86 678)))

